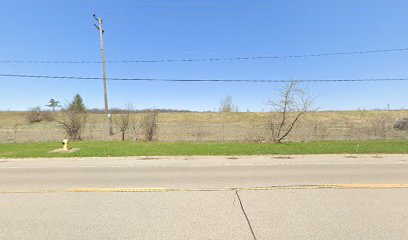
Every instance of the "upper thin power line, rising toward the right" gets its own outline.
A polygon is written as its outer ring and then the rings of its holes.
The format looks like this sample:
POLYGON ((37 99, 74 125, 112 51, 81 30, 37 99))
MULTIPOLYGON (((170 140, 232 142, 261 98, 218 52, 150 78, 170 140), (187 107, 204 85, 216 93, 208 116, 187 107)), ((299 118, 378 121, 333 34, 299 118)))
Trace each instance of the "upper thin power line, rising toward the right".
MULTIPOLYGON (((282 56, 254 56, 254 57, 227 57, 227 58, 190 58, 190 59, 159 59, 159 60, 110 60, 108 63, 170 63, 170 62, 210 62, 210 61, 234 61, 234 60, 266 60, 266 59, 290 59, 290 58, 308 58, 308 57, 327 57, 336 55, 357 55, 370 53, 392 53, 408 51, 408 48, 392 48, 367 51, 351 52, 331 52, 315 53, 301 55, 282 55, 282 56)), ((102 61, 53 61, 53 60, 0 60, 0 63, 27 63, 27 64, 93 64, 102 63, 102 61)))

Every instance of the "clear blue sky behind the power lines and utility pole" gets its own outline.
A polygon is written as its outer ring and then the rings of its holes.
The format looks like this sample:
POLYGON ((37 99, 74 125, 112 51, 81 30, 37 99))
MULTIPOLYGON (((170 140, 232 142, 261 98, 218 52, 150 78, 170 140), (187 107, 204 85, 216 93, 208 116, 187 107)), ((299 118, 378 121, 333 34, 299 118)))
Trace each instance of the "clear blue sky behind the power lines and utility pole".
MULTIPOLYGON (((408 2, 375 0, 2 1, 0 60, 100 60, 92 14, 104 19, 107 60, 313 54, 408 47, 408 2)), ((408 52, 256 61, 107 66, 108 77, 332 79, 408 77, 408 52)), ((5 64, 0 73, 101 76, 100 64, 5 64)), ((103 108, 101 81, 1 77, 0 110, 63 103, 80 93, 103 108)), ((327 109, 408 108, 408 82, 308 83, 327 109)), ((282 84, 108 82, 111 107, 267 110, 282 84)))

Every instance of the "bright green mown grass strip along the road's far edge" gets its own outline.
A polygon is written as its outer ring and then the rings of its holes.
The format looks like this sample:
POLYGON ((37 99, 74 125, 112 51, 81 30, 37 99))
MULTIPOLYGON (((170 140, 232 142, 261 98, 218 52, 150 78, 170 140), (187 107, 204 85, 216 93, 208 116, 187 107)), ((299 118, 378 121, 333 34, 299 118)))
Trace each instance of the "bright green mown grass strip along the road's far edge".
POLYGON ((285 144, 189 142, 72 142, 74 153, 49 153, 60 143, 0 144, 0 158, 191 156, 263 154, 379 154, 408 153, 408 141, 325 141, 285 144))

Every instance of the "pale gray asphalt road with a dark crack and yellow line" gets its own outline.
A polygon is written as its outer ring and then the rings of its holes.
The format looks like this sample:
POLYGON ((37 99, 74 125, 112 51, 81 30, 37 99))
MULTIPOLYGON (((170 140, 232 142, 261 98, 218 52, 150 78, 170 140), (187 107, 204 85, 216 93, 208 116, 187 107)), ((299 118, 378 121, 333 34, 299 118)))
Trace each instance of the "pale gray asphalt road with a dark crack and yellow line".
POLYGON ((408 239, 408 155, 0 159, 0 239, 408 239))

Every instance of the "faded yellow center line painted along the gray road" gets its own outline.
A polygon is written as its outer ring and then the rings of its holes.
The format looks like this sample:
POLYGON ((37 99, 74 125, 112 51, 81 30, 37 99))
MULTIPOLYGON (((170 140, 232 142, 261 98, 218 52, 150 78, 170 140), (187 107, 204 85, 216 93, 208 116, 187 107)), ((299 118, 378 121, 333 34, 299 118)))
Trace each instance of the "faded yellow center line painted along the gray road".
POLYGON ((312 189, 398 189, 408 188, 406 183, 389 184, 318 184, 318 185, 276 185, 267 187, 237 188, 69 188, 62 190, 16 190, 0 191, 0 194, 20 193, 106 193, 106 192, 215 192, 215 191, 271 191, 271 190, 312 190, 312 189))

